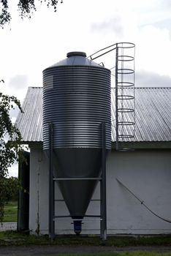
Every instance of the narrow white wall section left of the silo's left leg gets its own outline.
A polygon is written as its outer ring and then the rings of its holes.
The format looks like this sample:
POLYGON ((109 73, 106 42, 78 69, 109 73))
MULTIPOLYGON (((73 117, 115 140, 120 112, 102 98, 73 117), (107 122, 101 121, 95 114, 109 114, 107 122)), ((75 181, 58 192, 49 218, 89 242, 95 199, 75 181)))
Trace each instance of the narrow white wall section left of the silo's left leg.
POLYGON ((48 227, 48 162, 41 148, 30 152, 29 229, 41 233, 48 227))

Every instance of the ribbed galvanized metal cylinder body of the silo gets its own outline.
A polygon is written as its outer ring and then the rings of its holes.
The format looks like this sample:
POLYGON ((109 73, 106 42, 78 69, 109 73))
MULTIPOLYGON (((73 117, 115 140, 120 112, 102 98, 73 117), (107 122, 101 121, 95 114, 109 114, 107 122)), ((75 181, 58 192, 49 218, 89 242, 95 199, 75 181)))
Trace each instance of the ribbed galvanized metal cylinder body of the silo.
POLYGON ((106 148, 110 149, 110 70, 56 66, 44 70, 43 80, 43 149, 49 148, 51 122, 53 148, 101 148, 105 122, 106 148), (49 77, 53 77, 52 87, 49 77))

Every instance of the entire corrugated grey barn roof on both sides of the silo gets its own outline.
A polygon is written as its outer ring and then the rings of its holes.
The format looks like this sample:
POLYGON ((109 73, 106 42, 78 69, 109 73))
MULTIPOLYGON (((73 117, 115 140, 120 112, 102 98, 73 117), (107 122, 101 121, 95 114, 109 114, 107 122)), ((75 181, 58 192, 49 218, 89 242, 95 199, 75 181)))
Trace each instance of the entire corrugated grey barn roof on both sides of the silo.
MULTIPOLYGON (((115 120, 115 90, 112 89, 112 124, 115 120)), ((171 88, 135 89, 135 137, 134 141, 171 140, 171 88)), ((129 101, 125 101, 129 108, 129 101)), ((23 102, 24 113, 15 122, 23 142, 42 141, 42 87, 29 87, 23 102)), ((128 121, 129 121, 128 116, 128 121)), ((131 120, 131 118, 130 118, 131 120)), ((127 127, 129 130, 129 128, 127 127)), ((129 132, 129 131, 126 132, 129 132)), ((112 141, 115 141, 115 125, 112 125, 112 141)))

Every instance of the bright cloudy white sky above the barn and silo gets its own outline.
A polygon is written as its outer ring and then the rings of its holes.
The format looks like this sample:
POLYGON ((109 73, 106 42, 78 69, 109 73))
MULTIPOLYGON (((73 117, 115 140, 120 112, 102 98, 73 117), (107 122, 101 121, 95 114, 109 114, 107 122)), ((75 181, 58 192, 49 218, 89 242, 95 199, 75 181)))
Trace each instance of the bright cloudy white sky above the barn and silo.
MULTIPOLYGON (((42 70, 69 51, 89 56, 116 42, 136 45, 135 86, 171 87, 170 0, 59 0, 57 12, 38 1, 30 20, 20 19, 17 3, 9 0, 12 21, 0 29, 4 93, 23 102, 28 86, 42 86, 42 70)), ((114 53, 104 58, 106 67, 114 64, 114 53)))

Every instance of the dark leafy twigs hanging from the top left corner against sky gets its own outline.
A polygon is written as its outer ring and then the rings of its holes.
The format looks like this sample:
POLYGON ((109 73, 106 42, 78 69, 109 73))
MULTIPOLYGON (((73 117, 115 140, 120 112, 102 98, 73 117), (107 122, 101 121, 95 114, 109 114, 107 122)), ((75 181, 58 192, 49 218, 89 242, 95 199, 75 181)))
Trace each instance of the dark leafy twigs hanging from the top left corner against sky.
MULTIPOLYGON (((47 7, 53 7, 53 10, 56 12, 58 0, 37 0, 41 4, 45 2, 47 7)), ((31 14, 35 12, 36 0, 20 0, 18 2, 18 11, 21 18, 28 17, 31 18, 31 14)), ((9 23, 12 19, 11 14, 9 12, 9 1, 8 0, 1 0, 1 14, 0 14, 0 26, 3 28, 5 24, 9 23)), ((63 0, 61 0, 61 4, 63 0)))

